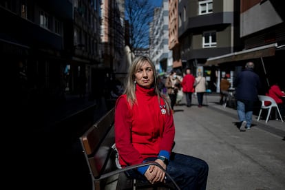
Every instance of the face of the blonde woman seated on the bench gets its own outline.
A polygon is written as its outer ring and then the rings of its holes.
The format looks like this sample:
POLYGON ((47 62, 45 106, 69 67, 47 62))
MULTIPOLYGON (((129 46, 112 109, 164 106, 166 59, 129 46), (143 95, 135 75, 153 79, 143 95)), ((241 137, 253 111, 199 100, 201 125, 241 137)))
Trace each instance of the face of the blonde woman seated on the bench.
POLYGON ((150 88, 152 83, 154 83, 154 70, 147 61, 136 70, 134 75, 136 83, 142 87, 150 88))

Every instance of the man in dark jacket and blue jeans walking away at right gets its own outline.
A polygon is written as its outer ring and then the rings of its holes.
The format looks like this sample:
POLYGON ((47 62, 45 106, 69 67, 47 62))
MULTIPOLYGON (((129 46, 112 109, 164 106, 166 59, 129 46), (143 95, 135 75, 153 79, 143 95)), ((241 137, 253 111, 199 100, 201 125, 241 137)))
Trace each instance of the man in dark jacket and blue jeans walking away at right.
POLYGON ((240 120, 240 131, 251 129, 253 105, 258 100, 261 89, 260 77, 253 72, 254 63, 246 63, 245 70, 237 74, 233 82, 237 100, 237 115, 240 120))

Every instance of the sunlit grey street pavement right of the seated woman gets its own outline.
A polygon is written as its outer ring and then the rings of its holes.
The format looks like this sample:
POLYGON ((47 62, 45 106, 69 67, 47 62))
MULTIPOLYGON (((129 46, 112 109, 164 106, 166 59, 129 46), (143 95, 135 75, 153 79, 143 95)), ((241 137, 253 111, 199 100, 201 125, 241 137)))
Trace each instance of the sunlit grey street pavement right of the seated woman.
POLYGON ((208 94, 202 108, 196 98, 191 107, 174 107, 173 151, 208 162, 209 190, 285 189, 285 123, 257 122, 254 115, 253 127, 240 131, 237 111, 219 101, 218 94, 208 94))

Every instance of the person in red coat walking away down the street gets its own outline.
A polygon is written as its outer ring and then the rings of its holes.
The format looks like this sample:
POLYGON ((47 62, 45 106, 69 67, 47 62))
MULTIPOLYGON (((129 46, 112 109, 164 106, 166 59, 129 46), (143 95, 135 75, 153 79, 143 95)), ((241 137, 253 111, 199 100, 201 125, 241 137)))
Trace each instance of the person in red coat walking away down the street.
POLYGON ((194 83, 195 77, 191 74, 191 70, 189 68, 186 69, 185 76, 182 80, 182 91, 185 94, 187 107, 191 106, 192 102, 192 93, 194 92, 194 83))

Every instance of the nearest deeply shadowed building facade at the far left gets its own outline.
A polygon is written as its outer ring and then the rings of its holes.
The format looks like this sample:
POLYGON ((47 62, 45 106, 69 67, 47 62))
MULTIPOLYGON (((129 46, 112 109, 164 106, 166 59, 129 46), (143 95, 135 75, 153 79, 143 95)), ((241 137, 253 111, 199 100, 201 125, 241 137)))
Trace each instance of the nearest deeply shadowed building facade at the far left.
POLYGON ((19 105, 63 101, 72 2, 1 1, 0 14, 1 57, 7 60, 8 81, 13 81, 19 105))

